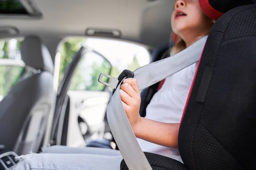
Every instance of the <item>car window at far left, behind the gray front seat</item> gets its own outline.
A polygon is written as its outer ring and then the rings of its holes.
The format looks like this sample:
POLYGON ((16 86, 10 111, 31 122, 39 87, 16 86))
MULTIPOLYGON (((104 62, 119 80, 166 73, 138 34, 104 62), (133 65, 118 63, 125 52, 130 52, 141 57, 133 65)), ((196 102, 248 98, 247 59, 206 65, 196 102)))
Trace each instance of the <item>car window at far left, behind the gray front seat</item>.
POLYGON ((0 100, 27 74, 20 57, 21 40, 0 40, 0 100))

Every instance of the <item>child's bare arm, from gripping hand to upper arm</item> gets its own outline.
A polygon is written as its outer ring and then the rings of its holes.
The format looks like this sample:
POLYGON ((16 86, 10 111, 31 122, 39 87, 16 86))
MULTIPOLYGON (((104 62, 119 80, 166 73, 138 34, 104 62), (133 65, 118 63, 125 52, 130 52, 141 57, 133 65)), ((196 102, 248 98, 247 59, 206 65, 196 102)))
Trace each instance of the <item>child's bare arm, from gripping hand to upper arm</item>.
POLYGON ((167 147, 177 147, 179 123, 162 123, 140 117, 137 80, 125 79, 120 89, 122 104, 136 137, 167 147))

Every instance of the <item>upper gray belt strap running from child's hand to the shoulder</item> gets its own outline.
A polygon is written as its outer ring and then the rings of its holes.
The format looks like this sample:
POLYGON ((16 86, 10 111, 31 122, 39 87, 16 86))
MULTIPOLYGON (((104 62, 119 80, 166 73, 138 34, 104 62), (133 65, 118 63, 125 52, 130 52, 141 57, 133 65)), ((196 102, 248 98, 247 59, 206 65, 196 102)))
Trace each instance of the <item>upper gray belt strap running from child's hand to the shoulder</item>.
POLYGON ((134 78, 137 79, 140 90, 154 85, 183 68, 198 62, 206 40, 207 36, 172 57, 152 62, 135 70, 134 78))

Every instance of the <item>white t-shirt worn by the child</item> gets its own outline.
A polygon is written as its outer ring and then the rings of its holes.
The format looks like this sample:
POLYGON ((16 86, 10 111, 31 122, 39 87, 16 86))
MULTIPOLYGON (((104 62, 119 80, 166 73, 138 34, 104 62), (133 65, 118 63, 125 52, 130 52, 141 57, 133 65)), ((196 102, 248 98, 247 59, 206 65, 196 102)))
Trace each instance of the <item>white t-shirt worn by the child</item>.
MULTIPOLYGON (((166 78, 162 88, 154 94, 148 104, 145 118, 158 122, 180 123, 197 64, 190 65, 166 78)), ((144 152, 157 153, 181 161, 178 158, 180 155, 178 149, 164 147, 142 139, 137 140, 144 152)))

